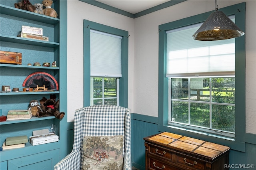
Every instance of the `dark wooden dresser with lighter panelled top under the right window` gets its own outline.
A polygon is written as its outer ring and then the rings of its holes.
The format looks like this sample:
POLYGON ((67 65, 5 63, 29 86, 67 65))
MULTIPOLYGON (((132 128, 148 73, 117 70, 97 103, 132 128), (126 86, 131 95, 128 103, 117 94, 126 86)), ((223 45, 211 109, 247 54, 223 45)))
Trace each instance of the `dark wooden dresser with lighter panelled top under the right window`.
POLYGON ((224 170, 230 148, 163 132, 145 140, 146 170, 224 170))

